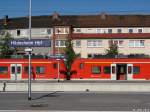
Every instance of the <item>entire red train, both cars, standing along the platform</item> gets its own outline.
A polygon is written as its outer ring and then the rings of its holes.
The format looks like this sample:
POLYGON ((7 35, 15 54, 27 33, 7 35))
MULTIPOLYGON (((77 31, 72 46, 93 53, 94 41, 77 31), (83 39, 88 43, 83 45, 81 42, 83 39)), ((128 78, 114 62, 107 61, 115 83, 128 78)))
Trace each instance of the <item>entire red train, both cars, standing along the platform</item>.
MULTIPOLYGON (((33 79, 66 79, 62 59, 32 59, 31 68, 33 79)), ((1 80, 27 78, 28 59, 0 59, 1 80)), ((150 59, 76 59, 71 67, 71 80, 74 79, 149 80, 150 59)))

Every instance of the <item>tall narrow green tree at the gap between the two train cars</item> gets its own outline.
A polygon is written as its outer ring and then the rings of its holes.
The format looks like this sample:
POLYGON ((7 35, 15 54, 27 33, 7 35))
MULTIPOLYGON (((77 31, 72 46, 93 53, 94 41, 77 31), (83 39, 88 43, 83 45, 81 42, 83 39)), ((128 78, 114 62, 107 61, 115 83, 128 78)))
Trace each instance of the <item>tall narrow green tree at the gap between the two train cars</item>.
POLYGON ((71 42, 71 39, 69 39, 66 42, 65 55, 66 55, 66 67, 67 67, 67 80, 70 80, 71 65, 72 65, 74 59, 77 57, 73 50, 73 44, 71 42))

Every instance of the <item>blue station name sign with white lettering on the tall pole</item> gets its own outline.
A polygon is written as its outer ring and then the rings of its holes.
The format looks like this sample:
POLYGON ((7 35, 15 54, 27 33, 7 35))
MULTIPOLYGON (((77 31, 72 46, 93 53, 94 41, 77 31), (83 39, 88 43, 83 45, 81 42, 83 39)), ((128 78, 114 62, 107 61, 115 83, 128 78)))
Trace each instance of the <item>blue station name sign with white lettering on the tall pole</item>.
POLYGON ((51 47, 51 41, 49 39, 14 39, 9 42, 11 47, 51 47))

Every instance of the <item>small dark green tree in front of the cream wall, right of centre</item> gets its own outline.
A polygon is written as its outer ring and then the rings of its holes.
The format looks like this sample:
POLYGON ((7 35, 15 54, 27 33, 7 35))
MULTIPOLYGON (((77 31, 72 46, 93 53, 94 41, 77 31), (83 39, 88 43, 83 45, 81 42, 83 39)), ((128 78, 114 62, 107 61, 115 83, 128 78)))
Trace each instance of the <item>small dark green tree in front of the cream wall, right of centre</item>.
POLYGON ((106 55, 110 57, 115 57, 118 55, 118 45, 110 41, 109 48, 106 49, 106 55))

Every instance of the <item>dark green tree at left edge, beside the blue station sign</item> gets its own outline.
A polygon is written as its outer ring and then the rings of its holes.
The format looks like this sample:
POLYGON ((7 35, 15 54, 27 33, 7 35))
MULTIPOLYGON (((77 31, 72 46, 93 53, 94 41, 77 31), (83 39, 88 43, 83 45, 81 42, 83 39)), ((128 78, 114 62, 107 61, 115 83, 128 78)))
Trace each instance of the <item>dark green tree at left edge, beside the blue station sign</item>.
POLYGON ((0 36, 0 58, 10 58, 16 52, 16 49, 9 46, 11 39, 10 34, 3 31, 3 35, 0 36))

